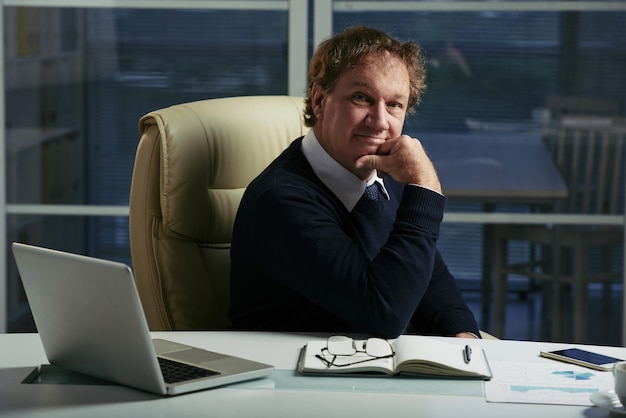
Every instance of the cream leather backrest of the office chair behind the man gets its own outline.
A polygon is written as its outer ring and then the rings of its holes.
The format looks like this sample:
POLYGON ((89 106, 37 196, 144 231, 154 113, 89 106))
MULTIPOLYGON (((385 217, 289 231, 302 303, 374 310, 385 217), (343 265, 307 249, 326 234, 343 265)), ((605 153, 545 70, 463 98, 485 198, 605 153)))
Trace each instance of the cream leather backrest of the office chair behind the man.
POLYGON ((203 100, 139 120, 130 245, 151 330, 224 329, 230 240, 247 185, 304 135, 304 100, 203 100))

